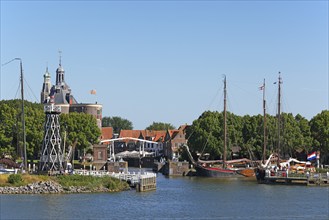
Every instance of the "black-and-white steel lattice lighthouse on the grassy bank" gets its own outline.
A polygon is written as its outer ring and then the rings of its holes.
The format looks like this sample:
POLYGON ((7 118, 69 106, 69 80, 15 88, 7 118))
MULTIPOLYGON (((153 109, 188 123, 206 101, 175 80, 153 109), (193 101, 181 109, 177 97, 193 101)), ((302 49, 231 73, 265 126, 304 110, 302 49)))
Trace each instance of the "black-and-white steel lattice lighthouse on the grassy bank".
POLYGON ((64 171, 64 154, 60 135, 59 115, 61 107, 45 105, 46 121, 42 143, 39 172, 60 173, 64 171))

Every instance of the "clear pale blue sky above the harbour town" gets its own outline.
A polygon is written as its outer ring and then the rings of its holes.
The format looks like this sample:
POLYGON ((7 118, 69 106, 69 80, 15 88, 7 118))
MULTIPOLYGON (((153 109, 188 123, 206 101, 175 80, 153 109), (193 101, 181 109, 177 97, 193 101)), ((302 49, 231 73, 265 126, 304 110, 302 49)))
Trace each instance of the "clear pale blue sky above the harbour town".
MULTIPOLYGON (((328 109, 328 1, 3 1, 1 64, 20 57, 26 99, 39 102, 48 66, 79 102, 103 104, 144 129, 191 124, 203 111, 311 119, 328 109), (97 95, 91 95, 95 89, 97 95)), ((19 63, 1 67, 1 99, 19 98, 19 63)))

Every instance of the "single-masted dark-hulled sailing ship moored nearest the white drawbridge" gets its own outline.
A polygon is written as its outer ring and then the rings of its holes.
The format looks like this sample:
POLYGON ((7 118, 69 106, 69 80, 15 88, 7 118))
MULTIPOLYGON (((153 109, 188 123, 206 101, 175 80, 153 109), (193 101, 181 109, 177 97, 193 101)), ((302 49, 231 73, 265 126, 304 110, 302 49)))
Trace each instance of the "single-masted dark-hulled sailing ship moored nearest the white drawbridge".
POLYGON ((226 160, 227 152, 227 114, 226 114, 226 76, 224 77, 224 151, 223 151, 223 160, 212 160, 205 161, 200 160, 195 161, 189 151, 187 145, 185 148, 187 150, 190 161, 195 167, 197 176, 204 177, 250 177, 254 176, 254 167, 252 166, 253 162, 249 159, 236 159, 236 160, 226 160))

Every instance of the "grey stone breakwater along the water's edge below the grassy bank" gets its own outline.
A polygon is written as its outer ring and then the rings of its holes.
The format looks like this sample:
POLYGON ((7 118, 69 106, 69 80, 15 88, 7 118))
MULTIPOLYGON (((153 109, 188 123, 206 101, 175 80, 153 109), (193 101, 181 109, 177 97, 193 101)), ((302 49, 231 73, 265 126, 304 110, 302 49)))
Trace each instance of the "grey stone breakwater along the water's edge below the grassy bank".
POLYGON ((31 183, 20 187, 0 187, 0 194, 57 194, 57 193, 90 193, 90 192, 109 192, 105 187, 88 189, 84 186, 63 187, 53 181, 31 183))

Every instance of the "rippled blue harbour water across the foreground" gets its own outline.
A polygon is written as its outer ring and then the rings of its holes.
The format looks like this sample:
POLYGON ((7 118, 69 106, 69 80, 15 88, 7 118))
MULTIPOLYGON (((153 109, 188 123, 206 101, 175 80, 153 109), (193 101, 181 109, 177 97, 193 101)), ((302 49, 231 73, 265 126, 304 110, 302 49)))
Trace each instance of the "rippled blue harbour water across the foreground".
POLYGON ((146 193, 0 195, 0 219, 329 219, 329 187, 158 174, 146 193))

